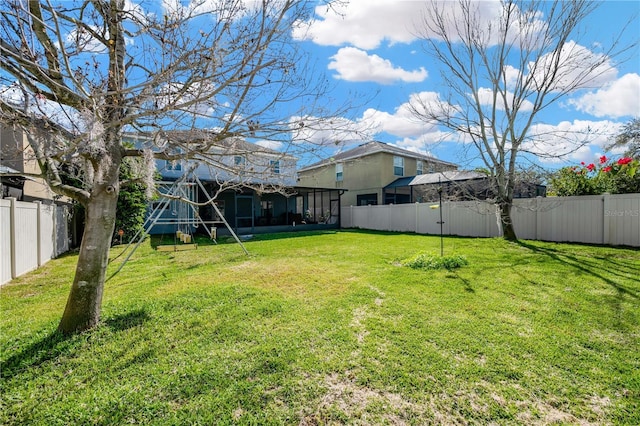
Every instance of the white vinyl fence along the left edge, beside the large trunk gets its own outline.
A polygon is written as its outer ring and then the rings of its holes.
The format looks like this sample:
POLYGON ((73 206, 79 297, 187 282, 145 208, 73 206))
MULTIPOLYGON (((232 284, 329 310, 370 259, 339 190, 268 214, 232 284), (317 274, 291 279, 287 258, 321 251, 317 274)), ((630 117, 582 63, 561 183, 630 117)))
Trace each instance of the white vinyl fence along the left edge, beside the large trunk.
POLYGON ((67 208, 0 199, 0 285, 69 250, 67 208))

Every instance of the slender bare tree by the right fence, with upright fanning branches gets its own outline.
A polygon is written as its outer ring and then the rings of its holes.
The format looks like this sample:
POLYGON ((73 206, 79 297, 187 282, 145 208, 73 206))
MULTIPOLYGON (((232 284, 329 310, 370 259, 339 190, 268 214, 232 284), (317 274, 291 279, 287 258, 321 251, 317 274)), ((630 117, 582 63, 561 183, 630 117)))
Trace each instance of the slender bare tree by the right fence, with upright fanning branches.
POLYGON ((511 207, 519 156, 566 155, 588 142, 588 131, 551 135, 536 118, 562 97, 596 86, 612 71, 611 59, 630 48, 614 41, 592 53, 577 43, 584 35, 581 24, 596 6, 582 0, 505 0, 494 19, 487 19, 482 2, 434 1, 420 21, 425 50, 442 66, 448 93, 416 96, 413 113, 458 134, 482 159, 495 182, 505 239, 517 239, 511 207), (551 136, 575 139, 551 146, 551 136))

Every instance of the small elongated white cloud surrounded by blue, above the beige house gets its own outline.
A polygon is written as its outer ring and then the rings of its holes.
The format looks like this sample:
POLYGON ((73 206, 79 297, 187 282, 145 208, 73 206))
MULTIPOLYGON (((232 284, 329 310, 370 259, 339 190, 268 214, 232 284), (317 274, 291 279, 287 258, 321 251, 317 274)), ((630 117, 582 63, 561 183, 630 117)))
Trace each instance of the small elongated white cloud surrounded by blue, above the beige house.
POLYGON ((336 70, 336 78, 346 81, 373 81, 381 84, 391 84, 394 81, 416 83, 427 78, 424 68, 416 71, 406 71, 394 67, 391 61, 378 55, 368 55, 364 50, 355 47, 343 47, 331 57, 329 69, 336 70))

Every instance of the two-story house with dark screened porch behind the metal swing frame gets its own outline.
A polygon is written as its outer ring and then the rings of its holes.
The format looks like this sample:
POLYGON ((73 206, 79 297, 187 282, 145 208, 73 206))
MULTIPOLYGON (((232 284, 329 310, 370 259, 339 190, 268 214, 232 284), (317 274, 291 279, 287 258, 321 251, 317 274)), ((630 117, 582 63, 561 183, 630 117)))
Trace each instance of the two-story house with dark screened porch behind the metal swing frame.
MULTIPOLYGON (((174 132, 169 137, 185 138, 181 144, 198 143, 186 140, 192 137, 189 133, 174 132)), ((135 134, 126 135, 125 140, 138 147, 148 141, 135 134)), ((342 191, 296 185, 295 157, 239 138, 215 142, 204 157, 156 160, 160 192, 177 191, 198 205, 172 201, 151 233, 203 233, 203 224, 224 233, 222 218, 207 203, 209 199, 215 199, 218 210, 240 234, 340 225, 342 191), (185 224, 191 229, 178 229, 185 224)), ((162 204, 162 198, 154 201, 152 210, 161 209, 162 204)))

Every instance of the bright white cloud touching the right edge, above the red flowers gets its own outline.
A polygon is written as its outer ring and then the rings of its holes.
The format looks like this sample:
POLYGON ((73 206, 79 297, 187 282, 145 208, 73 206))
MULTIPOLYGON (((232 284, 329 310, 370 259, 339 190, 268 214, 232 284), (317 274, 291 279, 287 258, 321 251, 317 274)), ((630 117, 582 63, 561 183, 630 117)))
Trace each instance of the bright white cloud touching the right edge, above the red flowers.
POLYGON ((595 117, 640 115, 640 75, 625 74, 599 90, 568 102, 578 111, 595 117))

